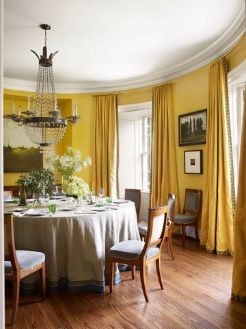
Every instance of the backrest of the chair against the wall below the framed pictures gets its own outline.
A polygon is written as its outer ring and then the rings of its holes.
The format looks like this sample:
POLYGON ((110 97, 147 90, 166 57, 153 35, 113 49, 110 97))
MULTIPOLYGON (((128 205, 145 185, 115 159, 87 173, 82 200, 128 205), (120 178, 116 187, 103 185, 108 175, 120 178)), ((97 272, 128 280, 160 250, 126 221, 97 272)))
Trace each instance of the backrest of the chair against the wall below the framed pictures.
POLYGON ((200 212, 202 201, 202 191, 193 188, 185 188, 184 208, 182 214, 189 212, 197 216, 200 212))

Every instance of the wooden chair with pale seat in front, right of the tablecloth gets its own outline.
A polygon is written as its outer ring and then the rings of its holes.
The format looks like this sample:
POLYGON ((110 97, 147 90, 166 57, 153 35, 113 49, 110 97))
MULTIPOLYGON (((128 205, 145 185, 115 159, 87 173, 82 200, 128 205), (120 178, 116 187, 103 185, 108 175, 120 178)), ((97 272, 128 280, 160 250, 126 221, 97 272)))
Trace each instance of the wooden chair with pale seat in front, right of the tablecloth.
POLYGON ((148 210, 148 232, 146 241, 128 240, 113 245, 109 250, 109 291, 113 289, 114 263, 131 265, 132 278, 135 277, 135 267, 140 269, 141 287, 143 295, 148 302, 146 291, 146 265, 156 262, 156 271, 161 289, 161 247, 164 241, 165 229, 167 226, 168 206, 149 208, 148 210))

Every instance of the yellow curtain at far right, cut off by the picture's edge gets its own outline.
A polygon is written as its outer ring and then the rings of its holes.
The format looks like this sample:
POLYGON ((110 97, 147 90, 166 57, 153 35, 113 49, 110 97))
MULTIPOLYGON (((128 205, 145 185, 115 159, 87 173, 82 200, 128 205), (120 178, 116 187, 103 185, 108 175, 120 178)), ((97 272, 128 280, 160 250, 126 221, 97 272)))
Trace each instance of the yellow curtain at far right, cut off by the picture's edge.
MULTIPOLYGON (((245 86, 246 90, 246 86, 245 86)), ((241 153, 239 163, 238 194, 236 198, 236 215, 234 228, 234 255, 232 273, 232 298, 246 302, 246 93, 243 108, 243 128, 241 136, 241 153)))

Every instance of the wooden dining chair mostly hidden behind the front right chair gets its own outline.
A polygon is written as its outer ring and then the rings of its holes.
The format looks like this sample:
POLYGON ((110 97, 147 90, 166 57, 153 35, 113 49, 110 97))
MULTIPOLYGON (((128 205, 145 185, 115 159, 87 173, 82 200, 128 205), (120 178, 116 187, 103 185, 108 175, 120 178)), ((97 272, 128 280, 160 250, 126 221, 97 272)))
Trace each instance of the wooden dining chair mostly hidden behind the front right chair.
MULTIPOLYGON (((168 193, 168 214, 167 214, 167 228, 165 230, 164 245, 167 252, 172 256, 174 260, 174 252, 172 249, 172 228, 174 227, 175 213, 176 213, 177 195, 168 193)), ((146 241, 148 223, 141 222, 138 224, 139 234, 141 239, 146 241)))

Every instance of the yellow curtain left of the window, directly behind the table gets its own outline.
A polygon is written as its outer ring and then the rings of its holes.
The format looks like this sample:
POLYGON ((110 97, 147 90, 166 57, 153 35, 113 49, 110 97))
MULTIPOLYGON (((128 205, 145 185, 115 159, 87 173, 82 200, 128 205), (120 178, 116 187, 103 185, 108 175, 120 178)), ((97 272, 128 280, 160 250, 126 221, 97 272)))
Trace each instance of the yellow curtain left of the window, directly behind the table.
POLYGON ((116 95, 95 97, 94 189, 105 196, 118 196, 118 109, 116 95))

